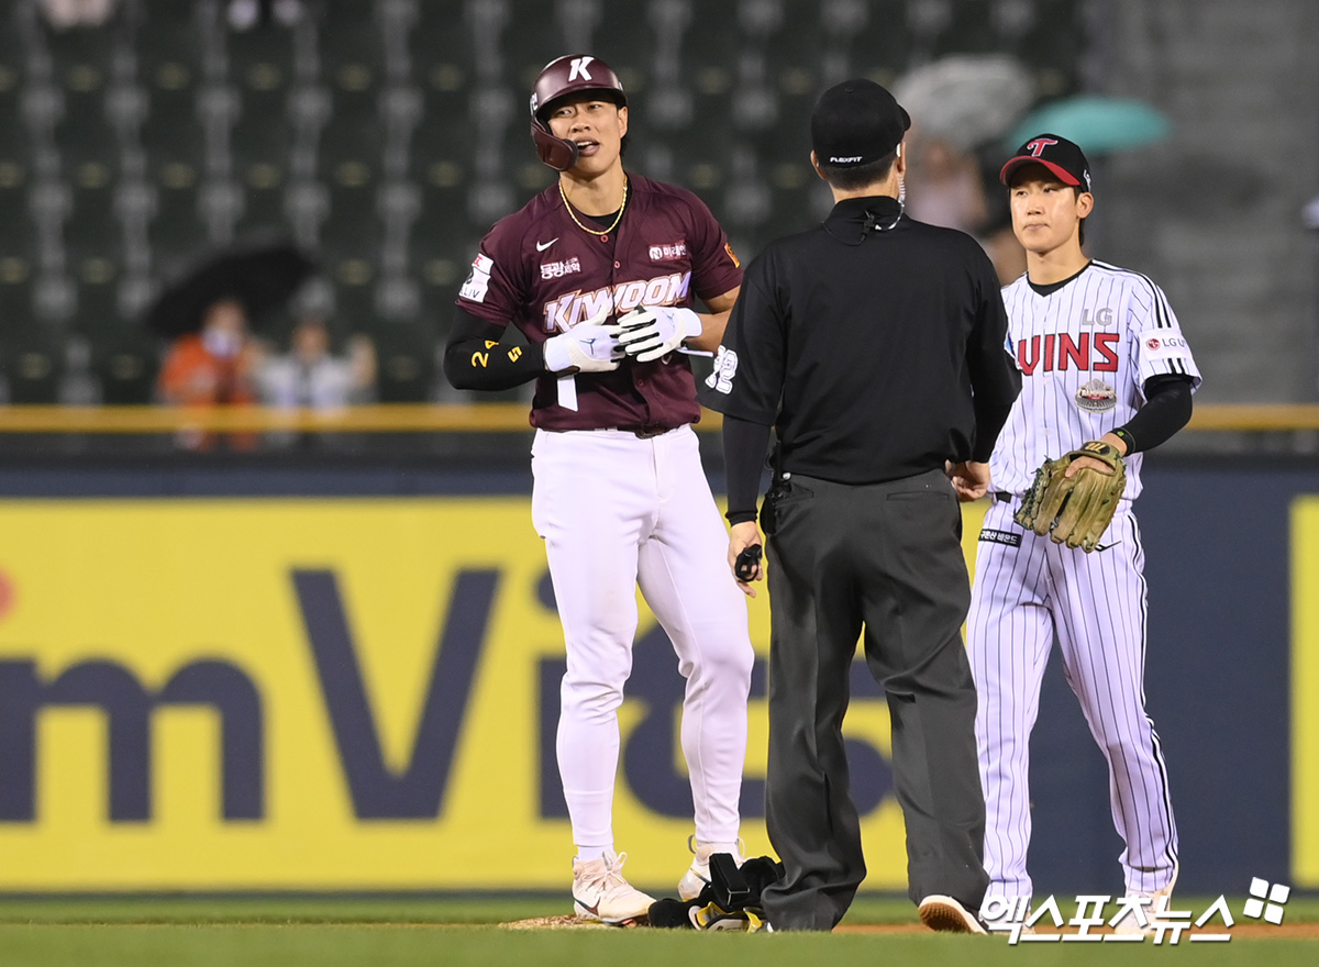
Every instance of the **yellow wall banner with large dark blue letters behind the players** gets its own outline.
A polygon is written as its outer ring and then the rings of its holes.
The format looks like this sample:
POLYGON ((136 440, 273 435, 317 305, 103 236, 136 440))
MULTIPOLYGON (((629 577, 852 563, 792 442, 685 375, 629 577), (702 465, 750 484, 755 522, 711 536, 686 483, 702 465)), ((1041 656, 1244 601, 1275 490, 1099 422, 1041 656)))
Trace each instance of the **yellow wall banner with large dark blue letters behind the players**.
MULTIPOLYGON (((0 501, 0 890, 562 888, 563 642, 529 503, 0 501)), ((764 591, 751 624, 764 657, 764 591)), ((615 834, 630 879, 671 884, 681 679, 644 603, 637 640, 615 834)), ((886 761, 888 731, 859 697, 855 749, 886 761)), ((867 887, 905 889, 874 789, 867 887)))

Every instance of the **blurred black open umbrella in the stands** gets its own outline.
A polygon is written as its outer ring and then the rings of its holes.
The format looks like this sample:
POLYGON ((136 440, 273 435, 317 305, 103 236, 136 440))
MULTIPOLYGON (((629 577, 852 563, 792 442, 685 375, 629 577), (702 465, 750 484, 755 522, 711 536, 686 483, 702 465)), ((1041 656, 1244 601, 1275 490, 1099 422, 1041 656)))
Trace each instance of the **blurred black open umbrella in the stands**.
POLYGON ((256 322, 288 302, 315 268, 288 241, 239 245, 211 255, 165 288, 146 311, 146 326, 170 338, 195 332, 207 307, 227 298, 241 302, 248 319, 256 322))

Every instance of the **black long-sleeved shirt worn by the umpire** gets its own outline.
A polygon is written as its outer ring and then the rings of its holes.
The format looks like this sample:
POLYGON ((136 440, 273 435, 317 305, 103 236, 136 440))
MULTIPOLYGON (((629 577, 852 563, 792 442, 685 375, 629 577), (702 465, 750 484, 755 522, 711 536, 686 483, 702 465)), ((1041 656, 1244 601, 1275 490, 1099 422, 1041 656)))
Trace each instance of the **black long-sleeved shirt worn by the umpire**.
POLYGON ((988 460, 1021 390, 1006 332, 979 243, 896 198, 845 198, 770 243, 707 380, 707 405, 762 427, 728 454, 729 520, 754 515, 769 426, 780 470, 845 484, 988 460))

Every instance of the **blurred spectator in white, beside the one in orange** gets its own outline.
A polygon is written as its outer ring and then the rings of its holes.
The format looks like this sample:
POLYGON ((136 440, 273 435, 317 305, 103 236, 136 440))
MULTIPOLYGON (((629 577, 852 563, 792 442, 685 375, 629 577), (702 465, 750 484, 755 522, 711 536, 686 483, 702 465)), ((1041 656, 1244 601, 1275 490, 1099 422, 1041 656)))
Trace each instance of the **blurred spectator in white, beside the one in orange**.
POLYGON ((257 369, 261 401, 314 409, 368 401, 376 384, 375 347, 367 336, 355 335, 346 348, 342 356, 330 351, 324 319, 302 319, 293 330, 289 352, 265 359, 257 369))

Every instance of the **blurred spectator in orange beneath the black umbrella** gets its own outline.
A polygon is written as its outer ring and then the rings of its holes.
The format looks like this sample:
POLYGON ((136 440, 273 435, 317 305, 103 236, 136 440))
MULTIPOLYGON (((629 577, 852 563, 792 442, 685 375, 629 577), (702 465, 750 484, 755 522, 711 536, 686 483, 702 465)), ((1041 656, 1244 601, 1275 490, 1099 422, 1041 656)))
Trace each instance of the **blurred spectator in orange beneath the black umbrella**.
MULTIPOLYGON (((161 398, 175 406, 223 406, 256 402, 256 369, 260 347, 248 331, 247 310, 235 298, 212 302, 202 328, 174 340, 161 365, 157 383, 161 398)), ((190 450, 210 450, 216 438, 187 430, 179 443, 190 450)), ((251 450, 252 434, 235 434, 231 449, 251 450)))

